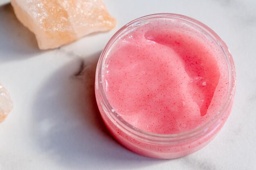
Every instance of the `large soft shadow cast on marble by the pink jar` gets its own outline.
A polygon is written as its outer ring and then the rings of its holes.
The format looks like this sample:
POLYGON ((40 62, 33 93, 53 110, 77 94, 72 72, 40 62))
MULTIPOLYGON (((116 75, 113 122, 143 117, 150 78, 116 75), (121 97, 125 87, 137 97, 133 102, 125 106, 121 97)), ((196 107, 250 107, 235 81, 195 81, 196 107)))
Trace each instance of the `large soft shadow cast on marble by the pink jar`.
POLYGON ((99 56, 63 66, 35 94, 31 140, 38 152, 70 169, 121 170, 166 161, 127 150, 104 126, 94 95, 99 56), (70 71, 74 67, 77 71, 70 71))

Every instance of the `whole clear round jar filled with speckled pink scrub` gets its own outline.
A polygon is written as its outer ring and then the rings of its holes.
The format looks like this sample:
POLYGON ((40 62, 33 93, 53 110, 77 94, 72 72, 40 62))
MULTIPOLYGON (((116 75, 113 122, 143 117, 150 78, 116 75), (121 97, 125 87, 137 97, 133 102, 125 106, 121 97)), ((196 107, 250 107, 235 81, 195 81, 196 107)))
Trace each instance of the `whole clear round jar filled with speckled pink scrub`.
POLYGON ((201 22, 159 13, 123 26, 103 50, 95 95, 108 130, 138 154, 173 159, 204 146, 234 101, 225 42, 201 22))

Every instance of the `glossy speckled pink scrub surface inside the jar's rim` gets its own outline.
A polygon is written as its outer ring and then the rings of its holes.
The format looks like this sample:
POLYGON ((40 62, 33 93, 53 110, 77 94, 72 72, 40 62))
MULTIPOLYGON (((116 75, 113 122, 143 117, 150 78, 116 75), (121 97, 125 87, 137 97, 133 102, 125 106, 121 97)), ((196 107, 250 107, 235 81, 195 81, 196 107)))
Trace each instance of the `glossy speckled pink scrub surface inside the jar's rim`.
POLYGON ((155 20, 120 38, 103 86, 125 121, 157 134, 202 126, 223 104, 229 70, 216 42, 179 20, 155 20))

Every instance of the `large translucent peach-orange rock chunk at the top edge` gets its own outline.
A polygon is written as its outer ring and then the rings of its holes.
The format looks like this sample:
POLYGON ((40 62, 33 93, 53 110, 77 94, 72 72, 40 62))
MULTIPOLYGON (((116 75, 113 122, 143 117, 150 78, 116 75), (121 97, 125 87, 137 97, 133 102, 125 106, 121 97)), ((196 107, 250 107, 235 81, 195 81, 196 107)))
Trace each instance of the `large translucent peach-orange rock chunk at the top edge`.
POLYGON ((54 49, 116 25, 102 0, 11 0, 14 12, 36 35, 40 49, 54 49))

